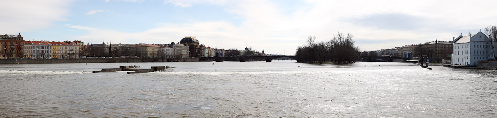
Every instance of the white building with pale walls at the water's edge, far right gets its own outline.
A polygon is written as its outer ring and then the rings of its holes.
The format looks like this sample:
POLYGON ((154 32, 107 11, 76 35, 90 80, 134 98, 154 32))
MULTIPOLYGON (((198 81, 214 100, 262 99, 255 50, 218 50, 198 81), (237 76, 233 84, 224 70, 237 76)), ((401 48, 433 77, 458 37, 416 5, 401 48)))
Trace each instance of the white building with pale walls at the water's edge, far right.
POLYGON ((489 53, 490 44, 485 41, 487 36, 480 32, 454 39, 452 45, 452 64, 477 65, 478 61, 492 59, 489 53))

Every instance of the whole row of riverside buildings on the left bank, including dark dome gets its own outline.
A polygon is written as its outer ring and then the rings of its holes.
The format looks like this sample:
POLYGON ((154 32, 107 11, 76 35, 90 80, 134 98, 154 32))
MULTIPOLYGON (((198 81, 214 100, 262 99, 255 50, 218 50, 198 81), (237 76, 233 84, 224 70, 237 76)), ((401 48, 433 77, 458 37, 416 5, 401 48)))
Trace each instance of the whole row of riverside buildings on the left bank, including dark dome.
POLYGON ((147 58, 190 58, 190 57, 224 57, 255 54, 246 48, 243 51, 224 50, 201 45, 195 37, 184 37, 178 43, 170 44, 93 44, 81 40, 75 41, 25 41, 20 35, 0 35, 1 59, 50 59, 50 58, 86 58, 86 57, 147 57, 147 58), (248 53, 252 52, 252 53, 248 53))

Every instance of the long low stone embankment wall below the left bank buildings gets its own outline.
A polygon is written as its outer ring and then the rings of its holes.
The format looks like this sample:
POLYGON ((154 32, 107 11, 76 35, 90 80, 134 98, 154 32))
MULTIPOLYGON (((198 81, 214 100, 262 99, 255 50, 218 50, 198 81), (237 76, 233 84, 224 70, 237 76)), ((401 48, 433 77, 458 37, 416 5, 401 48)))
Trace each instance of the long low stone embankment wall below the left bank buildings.
POLYGON ((0 64, 42 63, 108 63, 108 62, 198 62, 199 58, 152 59, 152 58, 103 58, 103 59, 0 59, 0 64))

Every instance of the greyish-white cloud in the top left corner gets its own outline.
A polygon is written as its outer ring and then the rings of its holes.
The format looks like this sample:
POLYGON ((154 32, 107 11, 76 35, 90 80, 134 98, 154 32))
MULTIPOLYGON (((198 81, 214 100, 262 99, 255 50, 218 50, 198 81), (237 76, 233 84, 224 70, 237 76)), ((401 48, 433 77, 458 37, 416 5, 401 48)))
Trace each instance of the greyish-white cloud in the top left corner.
POLYGON ((3 0, 0 33, 17 34, 64 21, 72 0, 3 0))

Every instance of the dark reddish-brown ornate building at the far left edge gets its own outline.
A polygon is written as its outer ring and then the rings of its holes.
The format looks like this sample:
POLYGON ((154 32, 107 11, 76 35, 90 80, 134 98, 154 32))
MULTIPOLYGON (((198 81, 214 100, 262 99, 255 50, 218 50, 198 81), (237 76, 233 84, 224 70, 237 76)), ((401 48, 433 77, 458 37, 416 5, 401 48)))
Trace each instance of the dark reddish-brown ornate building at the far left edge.
POLYGON ((19 35, 0 35, 0 59, 22 58, 24 56, 24 39, 19 35))

